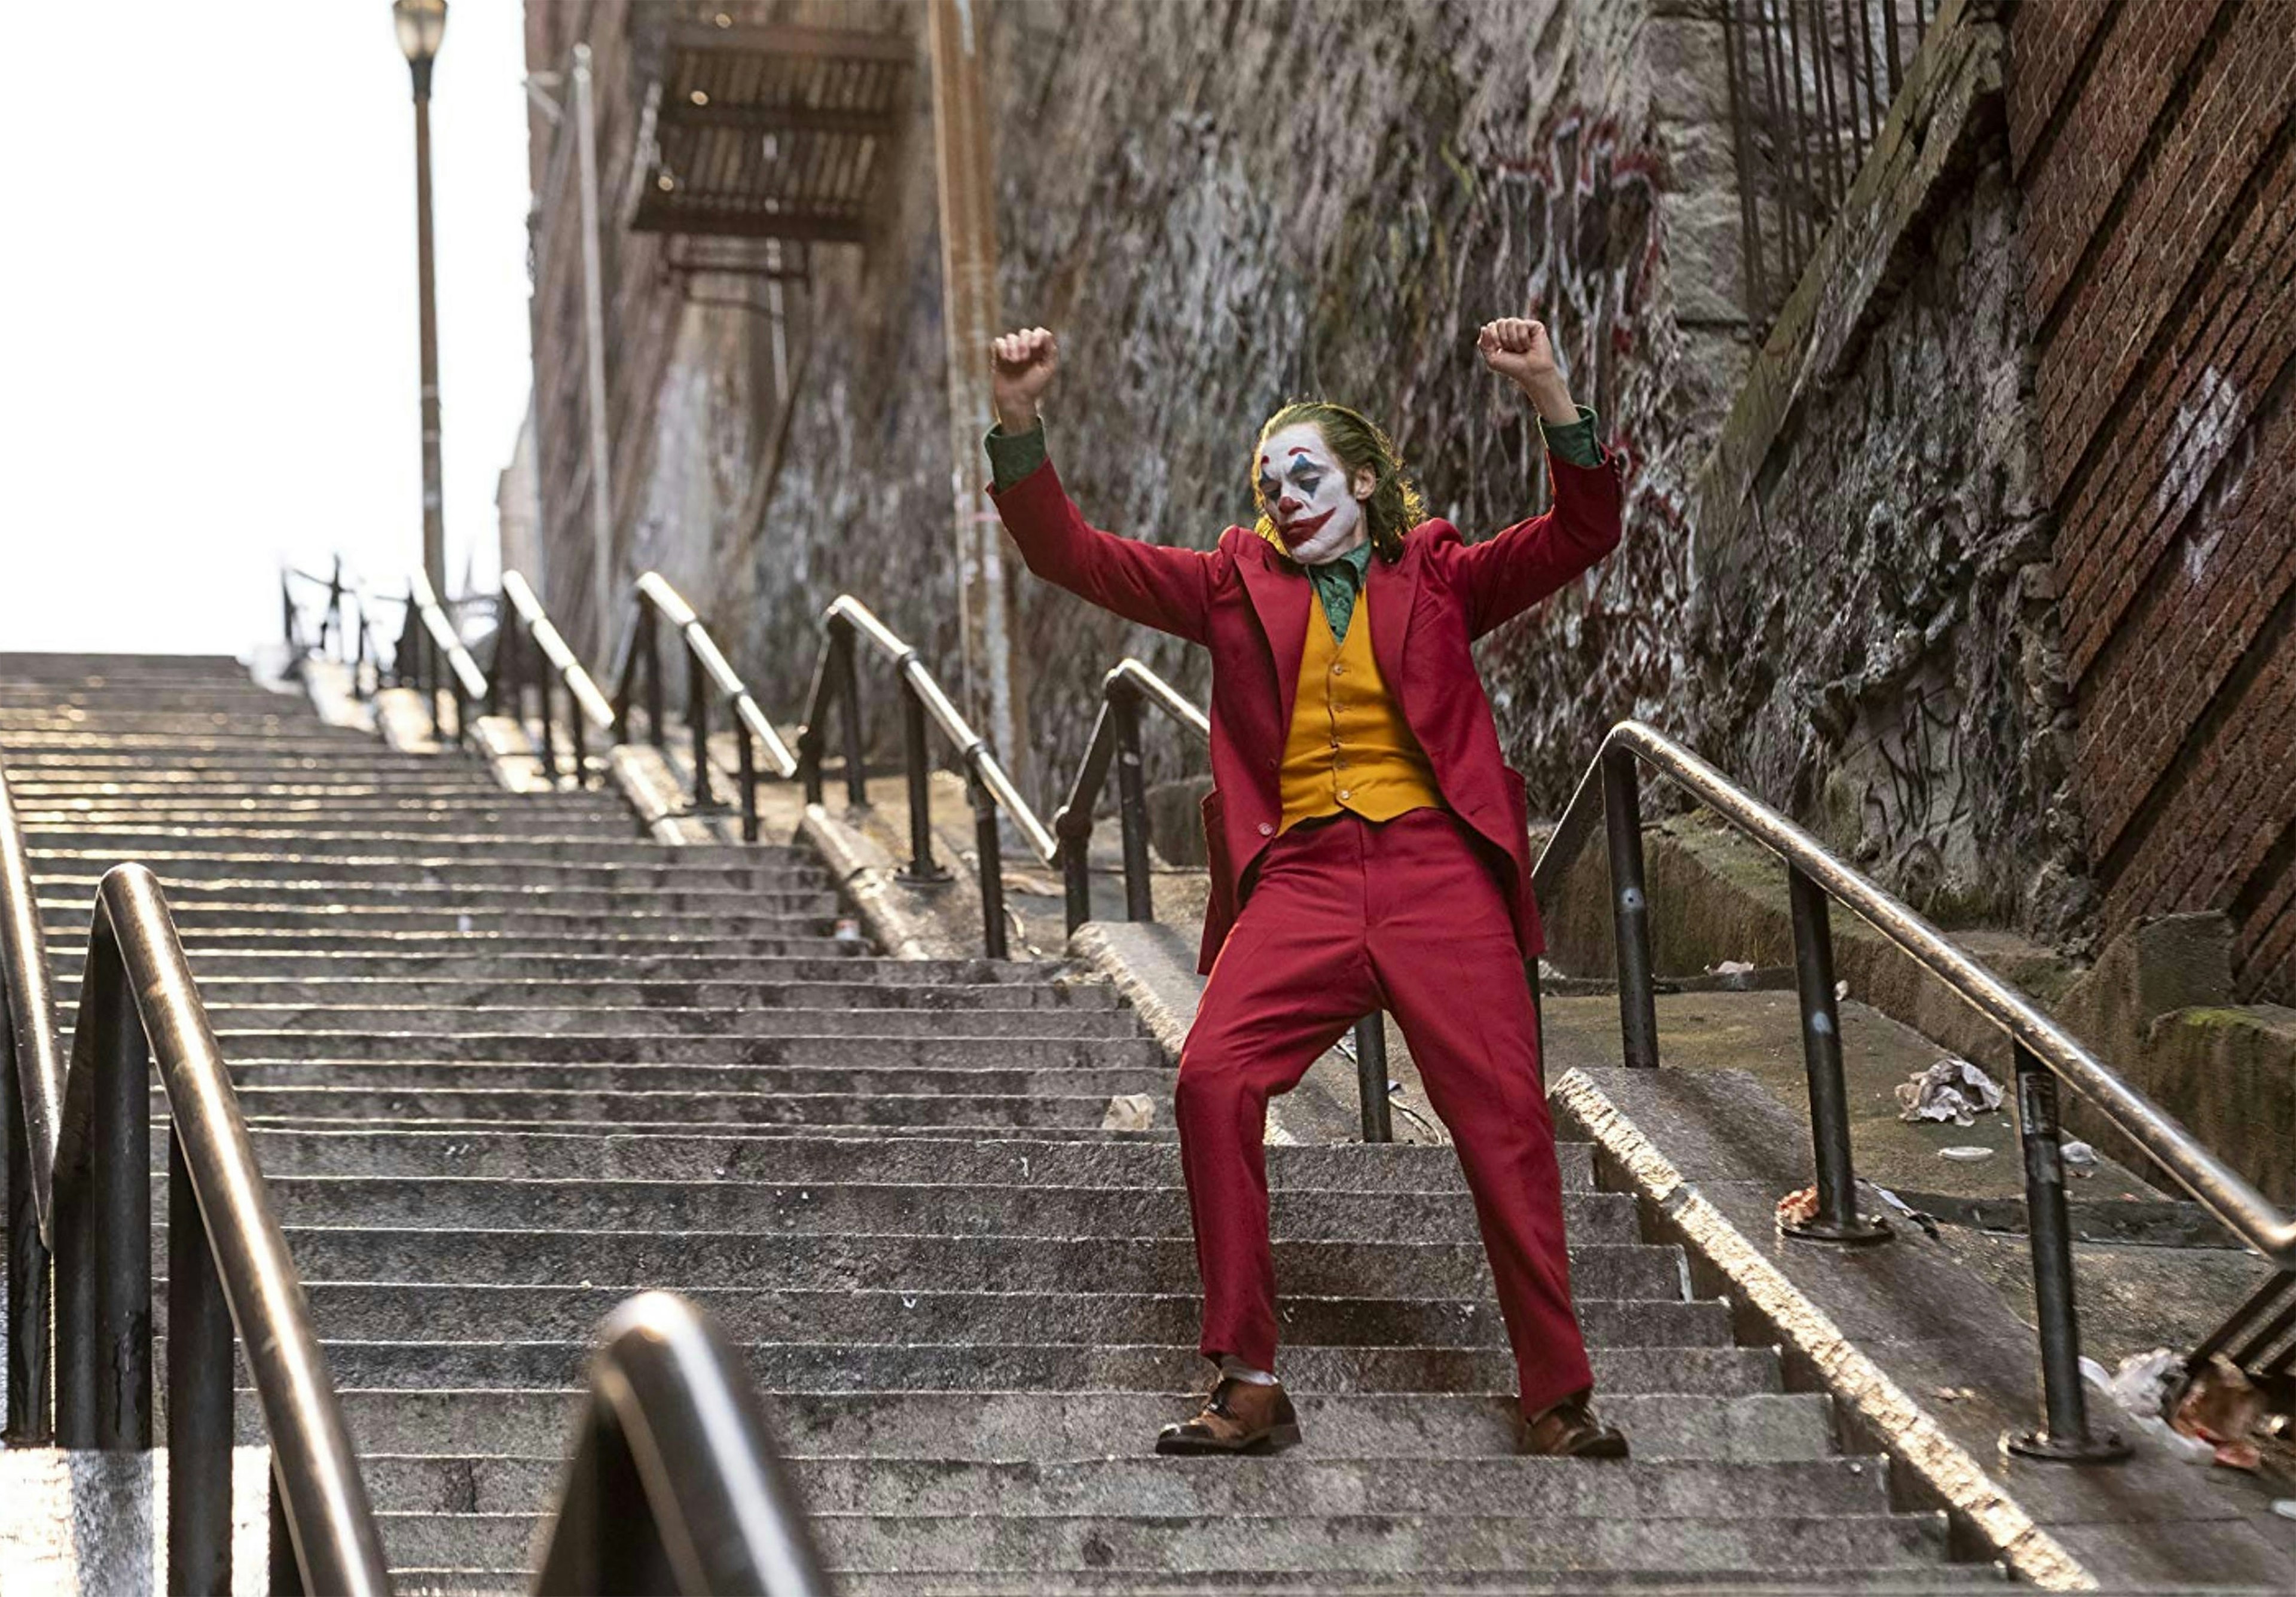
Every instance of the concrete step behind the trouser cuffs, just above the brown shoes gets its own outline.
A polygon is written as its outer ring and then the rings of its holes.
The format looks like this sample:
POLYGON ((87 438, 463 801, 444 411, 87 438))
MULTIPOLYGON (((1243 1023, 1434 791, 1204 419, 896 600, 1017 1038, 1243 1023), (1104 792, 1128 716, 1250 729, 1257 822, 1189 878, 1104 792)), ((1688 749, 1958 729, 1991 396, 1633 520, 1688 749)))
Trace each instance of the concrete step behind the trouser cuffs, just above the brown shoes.
MULTIPOLYGON (((326 1368, 338 1386, 553 1388, 572 1386, 595 1354, 579 1342, 338 1342, 326 1368)), ((1194 1338, 1166 1345, 1086 1342, 744 1342, 742 1358, 765 1390, 813 1393, 996 1393, 1047 1400, 1084 1393, 1173 1393, 1203 1374, 1194 1338)), ((158 1354, 154 1351, 154 1358, 158 1354)), ((1750 1347, 1593 1347, 1603 1393, 1745 1397, 1779 1390, 1777 1361, 1750 1347)), ((1286 1347, 1293 1393, 1483 1393, 1515 1390, 1504 1347, 1286 1347)))

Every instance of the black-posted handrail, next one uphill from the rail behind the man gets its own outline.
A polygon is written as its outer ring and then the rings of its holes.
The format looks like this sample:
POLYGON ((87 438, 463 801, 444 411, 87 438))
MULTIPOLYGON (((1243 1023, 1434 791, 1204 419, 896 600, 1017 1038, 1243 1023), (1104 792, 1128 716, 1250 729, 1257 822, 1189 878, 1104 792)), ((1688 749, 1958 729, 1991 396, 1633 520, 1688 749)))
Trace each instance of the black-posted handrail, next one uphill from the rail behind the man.
POLYGON ((925 750, 925 720, 930 718, 955 743, 957 759, 964 764, 964 789, 974 805, 974 849, 980 867, 983 945, 990 959, 1003 959, 1010 952, 1010 941, 1006 936, 1003 904, 1003 838, 996 828, 996 812, 1003 810, 1022 842, 1045 865, 1061 858, 1061 842, 1038 819, 1029 801, 1022 799, 1019 787, 990 750, 987 739, 974 732, 971 723, 964 720, 955 702, 941 691, 941 684, 932 679, 925 661, 900 633, 879 622, 852 594, 838 594, 829 603, 822 613, 822 631, 824 645, 813 668, 813 691, 806 695, 806 725, 797 732, 797 766, 806 782, 806 803, 822 801, 822 755, 829 743, 824 718, 831 709, 838 709, 845 743, 845 801, 856 810, 868 808, 866 739, 861 734, 861 661, 854 652, 854 642, 866 640, 893 661, 893 675, 900 679, 902 766, 909 782, 909 865, 902 870, 902 879, 914 883, 948 879, 948 872, 932 858, 930 755, 925 750))

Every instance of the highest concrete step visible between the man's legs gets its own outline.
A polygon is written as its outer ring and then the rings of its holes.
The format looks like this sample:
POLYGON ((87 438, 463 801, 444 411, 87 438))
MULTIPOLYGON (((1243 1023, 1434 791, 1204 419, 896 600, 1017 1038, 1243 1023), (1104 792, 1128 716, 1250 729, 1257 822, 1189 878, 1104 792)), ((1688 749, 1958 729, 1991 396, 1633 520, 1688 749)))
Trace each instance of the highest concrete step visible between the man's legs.
MULTIPOLYGON (((1171 1147, 1029 1138, 914 1138, 870 1145, 843 1136, 755 1138, 675 1131, 581 1136, 569 1131, 468 1138, 450 1131, 257 1129, 266 1175, 468 1175, 544 1179, 737 1179, 737 1182, 987 1182, 1015 1186, 1169 1186, 1171 1147)), ((156 1147, 156 1143, 154 1143, 156 1147)), ((1449 1147, 1274 1145, 1270 1191, 1458 1191, 1465 1177, 1449 1147)), ((1593 1147, 1557 1143, 1564 1191, 1593 1189, 1593 1147)), ((154 1168, 158 1154, 154 1154, 154 1168)))

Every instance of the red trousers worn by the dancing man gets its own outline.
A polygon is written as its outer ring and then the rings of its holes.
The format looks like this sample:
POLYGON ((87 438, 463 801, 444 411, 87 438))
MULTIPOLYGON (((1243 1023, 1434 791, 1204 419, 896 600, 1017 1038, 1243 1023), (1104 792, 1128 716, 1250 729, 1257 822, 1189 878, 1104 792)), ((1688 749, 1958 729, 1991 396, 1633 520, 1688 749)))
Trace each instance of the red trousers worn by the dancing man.
POLYGON ((1449 810, 1295 826, 1261 856, 1180 1051, 1173 1113, 1196 1225, 1208 1358, 1274 1370, 1267 1097, 1384 1007, 1474 1193, 1520 1402, 1591 1386, 1570 1308, 1561 1170, 1506 899, 1449 810))

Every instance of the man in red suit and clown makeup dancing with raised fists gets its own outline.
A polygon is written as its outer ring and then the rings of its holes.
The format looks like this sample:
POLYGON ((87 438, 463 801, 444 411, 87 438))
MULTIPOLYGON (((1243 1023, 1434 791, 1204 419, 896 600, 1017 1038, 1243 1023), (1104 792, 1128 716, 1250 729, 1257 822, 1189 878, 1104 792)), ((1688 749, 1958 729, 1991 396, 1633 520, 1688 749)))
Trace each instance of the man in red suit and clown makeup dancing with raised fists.
POLYGON ((1384 1007, 1474 1193, 1515 1354, 1518 1448, 1626 1457, 1626 1439, 1593 1413, 1570 1306, 1522 975, 1543 948, 1522 778, 1499 757, 1469 654, 1619 544, 1619 466, 1593 438, 1593 413, 1570 402, 1538 321, 1490 321, 1476 344, 1538 413, 1554 509, 1467 544, 1449 521, 1421 519, 1387 434, 1311 402, 1261 429, 1258 525, 1228 528, 1212 548, 1086 523, 1038 418, 1058 365, 1052 333, 992 346, 990 493, 1029 569, 1212 652, 1210 980, 1173 1111, 1203 1276, 1201 1351, 1219 1377, 1201 1413, 1157 1436, 1159 1452, 1300 1441, 1274 1377, 1267 1097, 1384 1007))

